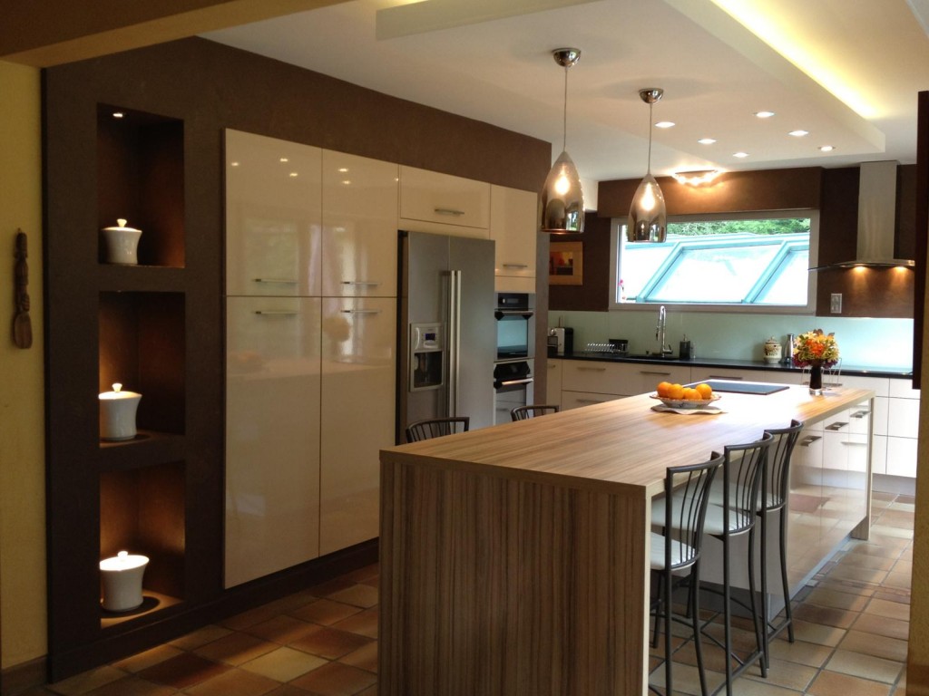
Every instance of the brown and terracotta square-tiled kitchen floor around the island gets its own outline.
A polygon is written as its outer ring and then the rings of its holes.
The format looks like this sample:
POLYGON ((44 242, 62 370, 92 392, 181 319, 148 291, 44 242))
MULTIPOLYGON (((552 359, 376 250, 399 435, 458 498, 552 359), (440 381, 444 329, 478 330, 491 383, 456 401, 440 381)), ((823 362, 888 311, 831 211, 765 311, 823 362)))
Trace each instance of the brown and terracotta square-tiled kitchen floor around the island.
MULTIPOLYGON (((778 638, 768 677, 738 696, 905 696, 913 500, 875 494, 870 541, 850 541, 794 603, 796 642, 778 638)), ((209 625, 28 696, 350 696, 377 693, 377 567, 209 625)), ((746 639, 742 632, 737 638, 746 639)), ((690 644, 675 693, 696 694, 690 644)), ((711 683, 722 675, 707 650, 711 683)), ((681 663, 681 664, 678 664, 681 663)), ((653 677, 658 678, 658 676, 653 677)), ((478 695, 476 695, 478 696, 478 695)))

